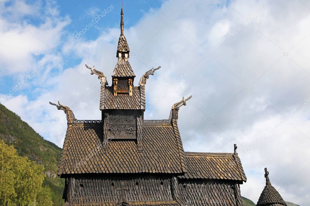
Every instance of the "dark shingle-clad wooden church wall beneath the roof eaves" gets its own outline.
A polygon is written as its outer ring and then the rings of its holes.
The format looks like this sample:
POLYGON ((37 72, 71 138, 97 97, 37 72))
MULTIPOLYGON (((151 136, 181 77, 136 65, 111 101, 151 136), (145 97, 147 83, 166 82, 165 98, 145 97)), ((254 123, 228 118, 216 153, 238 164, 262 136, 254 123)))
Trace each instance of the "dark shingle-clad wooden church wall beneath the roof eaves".
POLYGON ((93 175, 68 179, 69 203, 117 202, 120 188, 129 202, 182 200, 185 205, 241 205, 240 188, 233 181, 178 179, 171 175, 93 175))

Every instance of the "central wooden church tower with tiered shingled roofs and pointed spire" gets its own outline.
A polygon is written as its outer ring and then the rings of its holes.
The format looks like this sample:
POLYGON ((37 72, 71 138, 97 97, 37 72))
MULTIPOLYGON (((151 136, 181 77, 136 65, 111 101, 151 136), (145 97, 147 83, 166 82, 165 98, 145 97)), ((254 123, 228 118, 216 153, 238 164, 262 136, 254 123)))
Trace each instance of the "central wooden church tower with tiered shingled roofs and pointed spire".
MULTIPOLYGON (((121 34, 117 44, 117 63, 112 73, 112 86, 101 84, 100 110, 102 111, 104 146, 109 141, 135 140, 140 147, 141 123, 145 111, 145 73, 139 86, 134 86, 135 73, 129 59, 129 46, 124 36, 124 12, 121 10, 121 34)), ((154 74, 154 69, 150 70, 154 74)), ((105 77, 102 73, 102 78, 105 77)), ((99 77, 99 76, 98 76, 99 77)))

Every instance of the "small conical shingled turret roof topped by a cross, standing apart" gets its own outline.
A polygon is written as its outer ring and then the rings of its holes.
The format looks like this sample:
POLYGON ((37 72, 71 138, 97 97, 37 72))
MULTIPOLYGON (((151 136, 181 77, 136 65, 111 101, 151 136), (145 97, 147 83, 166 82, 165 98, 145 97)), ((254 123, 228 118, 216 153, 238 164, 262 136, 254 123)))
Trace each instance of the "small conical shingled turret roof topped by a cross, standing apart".
POLYGON ((271 185, 269 177, 269 172, 267 168, 265 168, 265 178, 266 178, 266 186, 264 187, 262 193, 260 194, 259 200, 257 202, 257 206, 269 206, 269 205, 286 205, 285 201, 279 194, 279 192, 271 185))

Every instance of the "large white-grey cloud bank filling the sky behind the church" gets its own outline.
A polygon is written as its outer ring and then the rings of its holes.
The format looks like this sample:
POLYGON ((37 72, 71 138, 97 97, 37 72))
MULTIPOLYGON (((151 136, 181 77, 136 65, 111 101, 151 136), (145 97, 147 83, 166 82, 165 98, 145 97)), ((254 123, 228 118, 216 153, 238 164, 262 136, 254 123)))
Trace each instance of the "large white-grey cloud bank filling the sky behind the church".
MULTIPOLYGON (((167 118, 173 103, 182 96, 193 95, 179 111, 178 124, 185 150, 232 152, 233 144, 237 143, 241 154, 266 134, 268 138, 242 159, 248 182, 241 186, 241 194, 257 202, 264 187, 263 168, 267 166, 271 182, 282 197, 306 205, 310 202, 310 180, 306 176, 310 172, 310 113, 309 104, 303 101, 310 96, 307 36, 310 14, 299 1, 268 3, 236 0, 226 6, 214 0, 196 1, 190 6, 187 1, 163 2, 160 11, 151 10, 131 28, 125 25, 124 34, 131 48, 129 61, 137 76, 135 85, 147 69, 162 66, 146 85, 146 119, 167 118), (263 5, 267 5, 266 11, 238 35, 228 38, 229 31, 263 5), (169 19, 174 19, 173 23, 169 19), (288 56, 283 55, 286 52, 288 56), (175 90, 152 104, 153 97, 188 69, 191 74, 175 90), (212 117, 212 121, 206 121, 207 117, 212 117), (283 185, 286 182, 288 186, 283 185)), ((68 23, 61 22, 58 27, 46 26, 55 31, 46 41, 59 40, 68 23)), ((37 33, 43 38, 43 26, 32 29, 40 30, 37 33)), ((21 95, 5 105, 59 146, 64 138, 65 116, 60 117, 62 111, 48 101, 60 100, 70 106, 78 119, 100 119, 100 92, 92 89, 93 85, 99 86, 99 81, 84 64, 95 65, 111 84, 119 28, 111 28, 109 32, 103 32, 96 40, 74 39, 62 55, 81 58, 79 65, 48 78, 49 73, 44 73, 46 81, 42 87, 46 89, 38 90, 41 95, 37 99, 21 95), (53 121, 55 117, 60 117, 60 121, 53 121)), ((20 38, 16 33, 15 38, 20 38)), ((28 54, 47 48, 40 45, 21 49, 28 54)), ((26 58, 24 53, 18 55, 26 58)), ((0 61, 3 59, 1 56, 0 61)), ((25 61, 24 65, 27 64, 37 63, 25 61)), ((61 67, 61 61, 50 69, 55 66, 61 67)))

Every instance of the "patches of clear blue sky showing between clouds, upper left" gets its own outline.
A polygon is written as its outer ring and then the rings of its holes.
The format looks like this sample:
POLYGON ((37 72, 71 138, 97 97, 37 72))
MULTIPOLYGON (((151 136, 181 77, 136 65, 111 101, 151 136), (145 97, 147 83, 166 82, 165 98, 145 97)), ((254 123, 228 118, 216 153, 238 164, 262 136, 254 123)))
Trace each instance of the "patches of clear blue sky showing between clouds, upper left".
MULTIPOLYGON (((47 4, 44 1, 27 1, 27 3, 33 5, 33 10, 31 10, 31 13, 37 12, 39 7, 44 7, 47 4)), ((161 3, 162 1, 123 1, 126 10, 130 11, 126 12, 125 10, 126 27, 135 25, 149 10, 157 10, 161 6, 161 3)), ((65 27, 65 33, 60 40, 62 44, 59 44, 57 47, 51 49, 52 53, 62 53, 62 46, 68 40, 68 38, 74 37, 76 32, 81 31, 87 24, 91 22, 91 20, 97 17, 96 15, 102 14, 104 9, 107 9, 111 5, 114 8, 108 12, 103 19, 100 19, 97 24, 94 24, 94 27, 87 31, 87 35, 84 35, 80 38, 83 40, 95 40, 98 38, 98 36, 101 35, 102 32, 107 31, 108 28, 118 27, 120 23, 120 7, 122 6, 122 1, 56 1, 53 4, 58 9, 59 16, 68 16, 71 19, 71 22, 65 27)), ((2 16, 7 18, 10 23, 14 23, 19 20, 27 21, 27 23, 34 26, 39 26, 44 23, 46 16, 38 18, 38 16, 32 16, 30 13, 30 15, 25 15, 22 19, 20 19, 14 15, 11 15, 10 12, 6 12, 6 8, 12 5, 14 6, 14 1, 7 1, 4 3, 4 7, 2 8, 2 16)), ((118 37, 116 36, 115 38, 118 37)), ((37 61, 39 61, 44 55, 40 54, 33 56, 37 61)), ((64 64, 63 69, 66 69, 71 65, 77 65, 81 61, 81 58, 75 58, 73 56, 64 58, 68 64, 64 64)), ((53 75, 53 73, 51 75, 53 75)), ((12 90, 16 83, 18 83, 14 75, 7 75, 5 72, 4 74, 0 75, 0 78, 0 93, 3 94, 6 93, 6 91, 12 90)), ((20 93, 26 93, 30 97, 36 98, 36 94, 33 92, 33 88, 31 86, 24 87, 22 90, 18 90, 15 95, 19 95, 20 93)))

